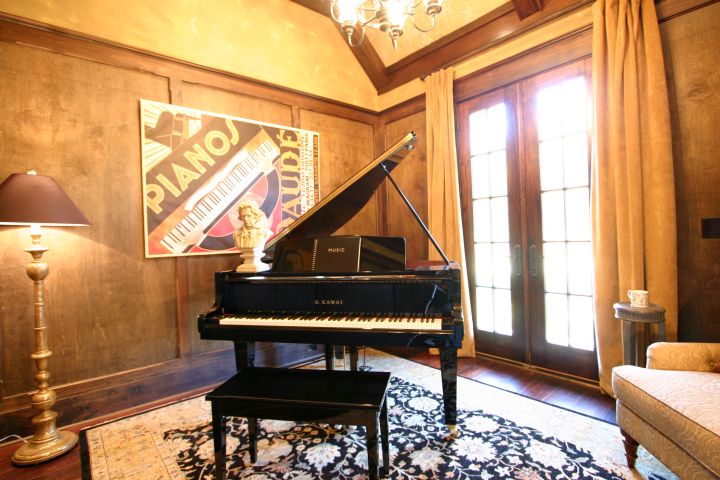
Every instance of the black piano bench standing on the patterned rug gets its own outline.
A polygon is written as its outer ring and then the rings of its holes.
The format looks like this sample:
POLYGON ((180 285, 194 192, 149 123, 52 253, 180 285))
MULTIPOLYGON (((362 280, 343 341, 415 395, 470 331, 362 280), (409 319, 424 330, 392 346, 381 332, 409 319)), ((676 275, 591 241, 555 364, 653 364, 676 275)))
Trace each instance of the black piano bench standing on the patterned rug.
POLYGON ((362 425, 368 469, 378 478, 378 430, 383 468, 390 466, 386 393, 390 373, 338 370, 247 368, 205 396, 212 403, 215 478, 225 478, 225 417, 245 417, 250 459, 257 461, 257 420, 292 420, 329 425, 362 425))

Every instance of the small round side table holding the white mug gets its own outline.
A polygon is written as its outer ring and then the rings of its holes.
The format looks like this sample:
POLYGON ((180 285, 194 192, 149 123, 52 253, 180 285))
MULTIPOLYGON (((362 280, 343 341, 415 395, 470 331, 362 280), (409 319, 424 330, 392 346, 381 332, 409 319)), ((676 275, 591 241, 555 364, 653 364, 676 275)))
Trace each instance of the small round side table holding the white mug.
POLYGON ((622 321, 623 327, 623 363, 625 365, 645 366, 645 352, 653 342, 665 341, 665 309, 651 303, 647 307, 633 307, 630 302, 613 305, 615 318, 622 321), (651 332, 656 324, 655 333, 651 332), (638 329, 641 332, 638 334, 638 329))

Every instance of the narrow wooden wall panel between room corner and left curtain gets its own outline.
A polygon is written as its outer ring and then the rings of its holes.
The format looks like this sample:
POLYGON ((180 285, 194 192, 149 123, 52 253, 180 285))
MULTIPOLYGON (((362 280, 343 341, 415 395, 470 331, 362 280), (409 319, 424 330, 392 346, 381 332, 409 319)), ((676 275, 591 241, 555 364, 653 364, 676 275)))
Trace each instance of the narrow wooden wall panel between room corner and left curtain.
MULTIPOLYGON (((391 173, 405 196, 413 204, 420 218, 427 224, 427 140, 425 138, 425 111, 414 113, 385 126, 385 144, 389 147, 410 131, 417 135, 415 149, 391 173)), ((428 258, 428 240, 405 202, 392 185, 387 187, 388 235, 405 237, 408 260, 428 258)), ((434 233, 434 232, 430 232, 434 233)))

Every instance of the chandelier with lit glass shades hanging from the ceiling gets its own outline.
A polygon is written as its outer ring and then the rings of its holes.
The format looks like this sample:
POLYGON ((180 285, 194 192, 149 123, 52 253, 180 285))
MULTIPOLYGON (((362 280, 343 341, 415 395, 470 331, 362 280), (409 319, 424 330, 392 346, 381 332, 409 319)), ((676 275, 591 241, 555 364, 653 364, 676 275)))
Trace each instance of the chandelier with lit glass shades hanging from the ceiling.
POLYGON ((365 39, 365 27, 377 28, 386 32, 397 48, 403 26, 408 18, 421 32, 429 32, 435 27, 435 17, 442 11, 442 0, 331 0, 330 14, 340 25, 352 47, 357 47, 365 39), (418 26, 415 22, 415 9, 424 6, 429 27, 418 26), (353 42, 355 33, 360 30, 360 39, 353 42))

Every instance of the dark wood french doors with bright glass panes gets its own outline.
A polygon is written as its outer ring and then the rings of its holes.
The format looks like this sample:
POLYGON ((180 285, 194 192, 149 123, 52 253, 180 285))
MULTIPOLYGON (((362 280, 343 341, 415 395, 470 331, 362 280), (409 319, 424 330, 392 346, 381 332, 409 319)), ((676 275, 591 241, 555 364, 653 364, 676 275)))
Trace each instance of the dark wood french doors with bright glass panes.
POLYGON ((589 61, 458 105, 476 349, 597 378, 589 61))

